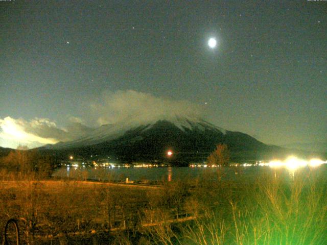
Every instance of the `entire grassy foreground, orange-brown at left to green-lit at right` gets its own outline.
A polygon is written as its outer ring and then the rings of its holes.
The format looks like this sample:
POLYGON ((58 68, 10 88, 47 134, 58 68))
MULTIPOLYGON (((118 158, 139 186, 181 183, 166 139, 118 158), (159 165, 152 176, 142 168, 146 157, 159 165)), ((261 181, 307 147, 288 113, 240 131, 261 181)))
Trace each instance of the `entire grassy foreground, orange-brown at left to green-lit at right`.
POLYGON ((2 181, 0 225, 19 220, 25 244, 327 244, 324 176, 278 176, 220 181, 217 171, 160 187, 2 181))

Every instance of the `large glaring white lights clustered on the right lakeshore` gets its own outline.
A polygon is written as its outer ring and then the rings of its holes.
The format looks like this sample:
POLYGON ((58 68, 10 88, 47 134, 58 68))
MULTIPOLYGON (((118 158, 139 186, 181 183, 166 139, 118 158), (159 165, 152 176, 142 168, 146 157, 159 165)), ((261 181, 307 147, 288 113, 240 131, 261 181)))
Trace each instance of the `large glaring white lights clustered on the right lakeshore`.
POLYGON ((269 166, 272 168, 279 168, 279 167, 287 167, 288 169, 296 169, 300 167, 317 167, 320 166, 321 164, 327 163, 327 161, 322 161, 320 159, 314 158, 309 161, 303 160, 303 159, 298 159, 296 157, 289 157, 285 161, 280 161, 280 160, 272 160, 268 163, 260 163, 260 166, 269 166))

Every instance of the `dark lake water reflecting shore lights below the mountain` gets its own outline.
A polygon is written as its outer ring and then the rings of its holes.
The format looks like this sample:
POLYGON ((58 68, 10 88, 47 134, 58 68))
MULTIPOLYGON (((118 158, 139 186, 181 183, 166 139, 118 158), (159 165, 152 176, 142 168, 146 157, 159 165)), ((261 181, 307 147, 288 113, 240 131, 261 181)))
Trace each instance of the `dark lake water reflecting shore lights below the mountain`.
POLYGON ((112 181, 173 181, 196 178, 254 179, 271 175, 292 180, 296 175, 319 174, 327 176, 327 164, 318 167, 298 169, 271 168, 269 166, 227 166, 227 167, 114 167, 114 168, 60 168, 54 177, 112 181))

